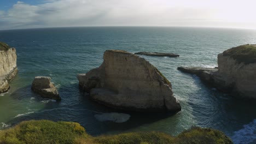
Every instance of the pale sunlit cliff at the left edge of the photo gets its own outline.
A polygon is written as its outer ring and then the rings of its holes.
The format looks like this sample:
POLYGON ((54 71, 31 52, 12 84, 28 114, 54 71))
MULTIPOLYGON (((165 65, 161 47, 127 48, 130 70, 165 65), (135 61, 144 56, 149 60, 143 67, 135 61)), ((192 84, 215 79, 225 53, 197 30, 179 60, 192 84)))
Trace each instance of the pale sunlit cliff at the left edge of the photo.
POLYGON ((0 94, 7 92, 9 81, 18 73, 16 50, 0 42, 0 94))

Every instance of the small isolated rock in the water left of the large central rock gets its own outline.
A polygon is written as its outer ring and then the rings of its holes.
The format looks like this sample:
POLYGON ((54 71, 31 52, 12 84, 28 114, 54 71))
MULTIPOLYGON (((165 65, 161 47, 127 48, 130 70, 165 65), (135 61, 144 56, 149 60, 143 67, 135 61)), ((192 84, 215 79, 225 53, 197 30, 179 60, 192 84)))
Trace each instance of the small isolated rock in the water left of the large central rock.
POLYGON ((31 87, 32 91, 41 95, 42 98, 61 100, 61 97, 51 82, 51 78, 47 76, 36 76, 31 87))

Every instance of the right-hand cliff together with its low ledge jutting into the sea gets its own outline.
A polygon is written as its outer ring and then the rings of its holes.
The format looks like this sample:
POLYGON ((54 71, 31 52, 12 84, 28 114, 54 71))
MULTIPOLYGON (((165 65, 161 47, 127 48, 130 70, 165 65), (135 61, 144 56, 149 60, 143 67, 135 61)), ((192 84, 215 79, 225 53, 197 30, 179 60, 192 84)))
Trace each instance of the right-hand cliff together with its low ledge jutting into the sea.
POLYGON ((178 68, 198 75, 220 91, 256 98, 256 45, 233 47, 218 55, 218 69, 178 68))

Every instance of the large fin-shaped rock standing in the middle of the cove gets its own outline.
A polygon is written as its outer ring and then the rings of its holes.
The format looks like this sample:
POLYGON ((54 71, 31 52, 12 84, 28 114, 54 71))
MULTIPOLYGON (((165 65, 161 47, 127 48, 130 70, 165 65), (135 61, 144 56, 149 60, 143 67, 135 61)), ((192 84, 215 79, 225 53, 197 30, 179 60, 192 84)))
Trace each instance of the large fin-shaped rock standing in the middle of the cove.
POLYGON ((78 75, 79 87, 92 100, 115 109, 178 112, 171 83, 144 58, 121 50, 104 52, 99 68, 78 75))

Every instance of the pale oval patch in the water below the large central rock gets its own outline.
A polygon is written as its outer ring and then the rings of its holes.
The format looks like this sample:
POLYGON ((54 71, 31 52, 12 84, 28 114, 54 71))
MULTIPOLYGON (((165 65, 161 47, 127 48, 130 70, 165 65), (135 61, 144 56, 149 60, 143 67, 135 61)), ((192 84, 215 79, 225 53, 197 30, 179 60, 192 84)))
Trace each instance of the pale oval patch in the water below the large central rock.
POLYGON ((131 116, 126 113, 110 112, 110 113, 96 114, 94 115, 94 117, 100 122, 112 121, 115 123, 123 123, 128 121, 131 116))

